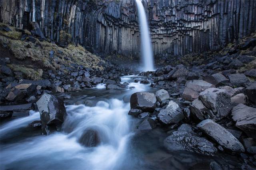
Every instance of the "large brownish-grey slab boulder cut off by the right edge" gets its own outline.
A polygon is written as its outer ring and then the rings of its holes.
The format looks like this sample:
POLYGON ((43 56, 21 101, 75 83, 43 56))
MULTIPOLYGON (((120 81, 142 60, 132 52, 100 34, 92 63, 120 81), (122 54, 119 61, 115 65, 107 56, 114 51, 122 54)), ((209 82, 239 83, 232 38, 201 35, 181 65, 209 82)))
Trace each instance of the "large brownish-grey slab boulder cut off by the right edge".
POLYGON ((236 127, 246 132, 249 137, 256 137, 256 108, 239 104, 233 107, 232 116, 236 127))

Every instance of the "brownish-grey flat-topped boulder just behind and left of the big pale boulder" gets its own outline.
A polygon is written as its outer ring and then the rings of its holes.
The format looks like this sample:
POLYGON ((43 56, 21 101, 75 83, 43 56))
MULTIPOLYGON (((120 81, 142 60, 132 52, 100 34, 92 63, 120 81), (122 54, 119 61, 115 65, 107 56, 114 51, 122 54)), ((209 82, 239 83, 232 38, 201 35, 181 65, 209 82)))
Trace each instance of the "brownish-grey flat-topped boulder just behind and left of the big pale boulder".
POLYGON ((182 98, 187 101, 193 101, 198 98, 200 92, 211 87, 215 86, 203 80, 187 81, 182 98))

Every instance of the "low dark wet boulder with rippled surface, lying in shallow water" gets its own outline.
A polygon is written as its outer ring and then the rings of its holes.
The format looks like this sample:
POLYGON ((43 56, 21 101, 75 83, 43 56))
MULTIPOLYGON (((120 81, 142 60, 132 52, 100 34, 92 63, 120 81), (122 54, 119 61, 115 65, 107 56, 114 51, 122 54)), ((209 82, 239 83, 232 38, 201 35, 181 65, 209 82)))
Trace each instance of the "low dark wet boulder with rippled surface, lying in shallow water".
POLYGON ((204 155, 214 155, 217 149, 205 138, 198 137, 188 124, 181 125, 164 140, 164 146, 170 151, 187 150, 204 155))

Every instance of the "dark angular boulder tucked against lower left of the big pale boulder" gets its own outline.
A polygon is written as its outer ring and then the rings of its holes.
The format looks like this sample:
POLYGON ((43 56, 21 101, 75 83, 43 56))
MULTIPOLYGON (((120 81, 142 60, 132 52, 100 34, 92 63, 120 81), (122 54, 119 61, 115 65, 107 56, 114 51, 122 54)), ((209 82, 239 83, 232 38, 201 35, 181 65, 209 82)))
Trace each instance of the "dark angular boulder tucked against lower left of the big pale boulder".
POLYGON ((192 115, 196 116, 197 119, 200 121, 204 119, 214 119, 215 115, 214 113, 206 108, 202 101, 200 101, 198 98, 192 101, 190 105, 190 111, 192 115))

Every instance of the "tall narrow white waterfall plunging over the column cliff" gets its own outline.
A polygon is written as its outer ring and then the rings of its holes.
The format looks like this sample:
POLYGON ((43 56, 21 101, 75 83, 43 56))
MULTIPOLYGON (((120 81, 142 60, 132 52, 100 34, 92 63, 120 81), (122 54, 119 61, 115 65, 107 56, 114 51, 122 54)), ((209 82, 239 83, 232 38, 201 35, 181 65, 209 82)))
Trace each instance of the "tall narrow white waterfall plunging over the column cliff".
POLYGON ((140 23, 140 42, 142 51, 143 71, 154 71, 153 52, 146 12, 140 0, 136 0, 136 4, 138 8, 140 23))

